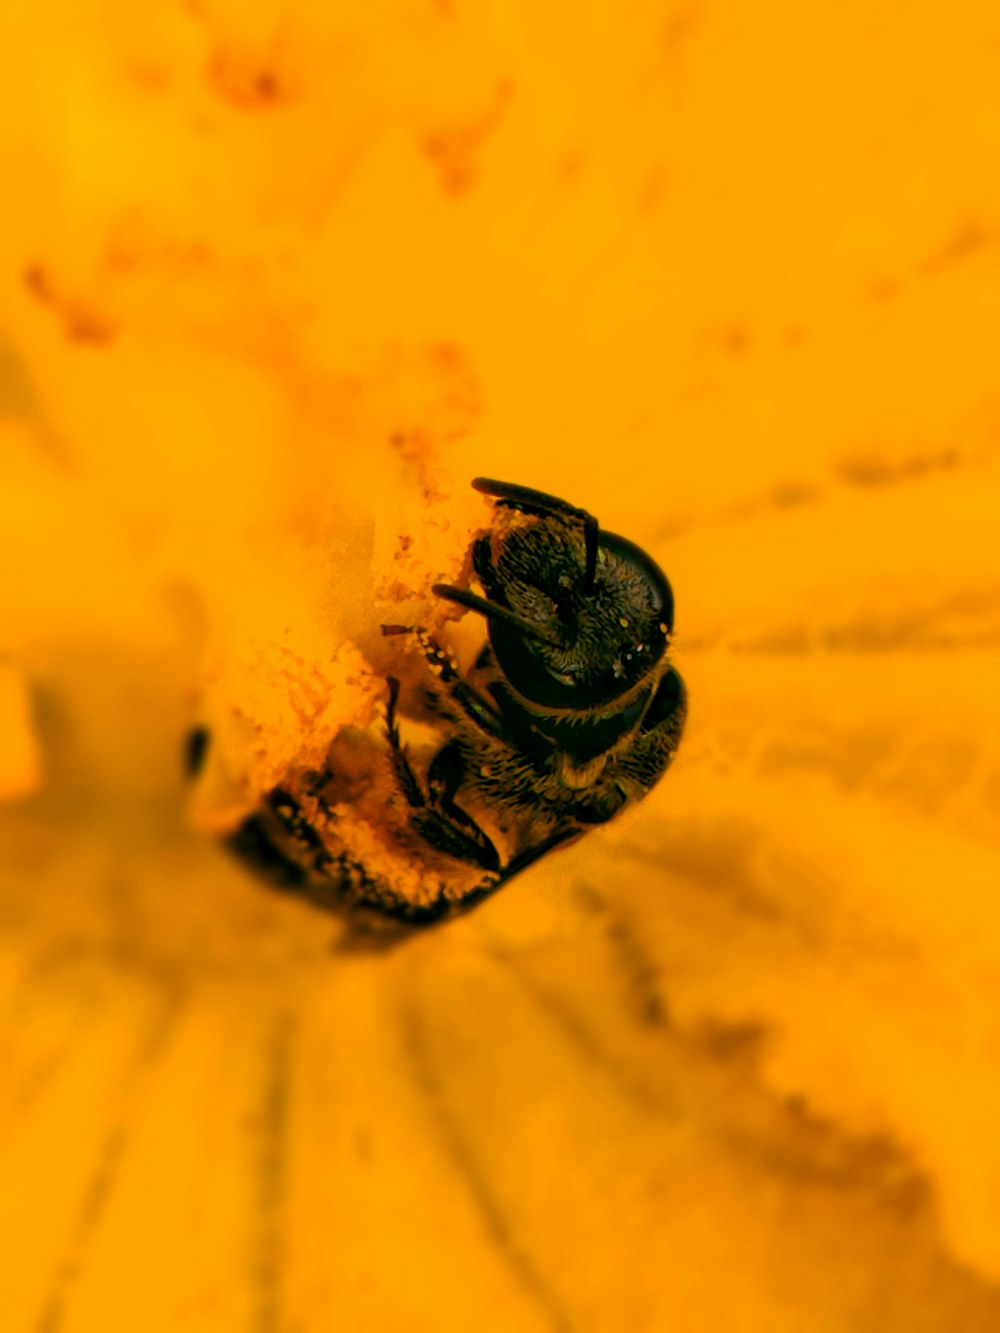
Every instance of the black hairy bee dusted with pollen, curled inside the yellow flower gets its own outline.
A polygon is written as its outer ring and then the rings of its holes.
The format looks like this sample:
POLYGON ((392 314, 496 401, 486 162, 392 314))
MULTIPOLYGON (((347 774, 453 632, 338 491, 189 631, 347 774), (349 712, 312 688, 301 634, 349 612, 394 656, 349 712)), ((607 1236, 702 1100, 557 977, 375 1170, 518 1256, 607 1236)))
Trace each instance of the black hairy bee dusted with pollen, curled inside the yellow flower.
POLYGON ((365 737, 335 742, 323 770, 275 788, 231 837, 321 906, 401 926, 468 912, 645 796, 677 750, 687 696, 668 659, 673 593, 659 565, 565 500, 472 485, 493 500, 471 549, 481 591, 432 591, 483 616, 475 664, 463 673, 421 628, 383 625, 411 636, 423 661, 411 712, 435 744, 411 754, 389 676, 377 750, 365 737), (373 864, 372 837, 408 873, 373 864))

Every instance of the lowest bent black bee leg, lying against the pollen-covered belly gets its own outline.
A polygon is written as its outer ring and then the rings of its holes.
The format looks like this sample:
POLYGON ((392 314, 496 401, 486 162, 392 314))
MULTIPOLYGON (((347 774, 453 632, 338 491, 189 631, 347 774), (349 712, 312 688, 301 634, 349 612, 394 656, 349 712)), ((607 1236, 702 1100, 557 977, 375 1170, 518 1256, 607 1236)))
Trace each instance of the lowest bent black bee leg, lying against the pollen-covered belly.
POLYGON ((405 752, 396 722, 399 681, 388 677, 385 736, 400 790, 409 805, 411 822, 439 852, 493 873, 500 870, 496 848, 471 816, 455 804, 455 793, 465 776, 465 764, 456 745, 445 745, 431 761, 428 792, 424 793, 405 752))

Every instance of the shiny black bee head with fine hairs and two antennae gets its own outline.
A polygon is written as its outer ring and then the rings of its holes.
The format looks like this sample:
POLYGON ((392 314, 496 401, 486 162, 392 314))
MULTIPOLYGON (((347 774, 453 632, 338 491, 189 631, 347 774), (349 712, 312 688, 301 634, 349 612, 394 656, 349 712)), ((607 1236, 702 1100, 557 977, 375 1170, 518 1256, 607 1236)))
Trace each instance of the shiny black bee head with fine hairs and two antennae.
POLYGON ((628 693, 661 660, 673 595, 649 556, 564 500, 476 480, 497 497, 473 564, 485 596, 435 592, 487 617, 508 682, 545 708, 589 709, 628 693))

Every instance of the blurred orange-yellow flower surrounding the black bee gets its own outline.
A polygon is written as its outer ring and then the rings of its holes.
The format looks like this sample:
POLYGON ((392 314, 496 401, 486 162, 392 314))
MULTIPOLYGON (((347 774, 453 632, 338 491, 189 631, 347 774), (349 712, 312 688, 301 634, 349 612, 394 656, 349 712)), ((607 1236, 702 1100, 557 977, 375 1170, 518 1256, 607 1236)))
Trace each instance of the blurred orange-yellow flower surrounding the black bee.
POLYGON ((4 1333, 1000 1328, 1000 13, 4 0, 0 164, 4 1333), (688 734, 347 954, 183 737, 333 734, 473 475, 688 734))

